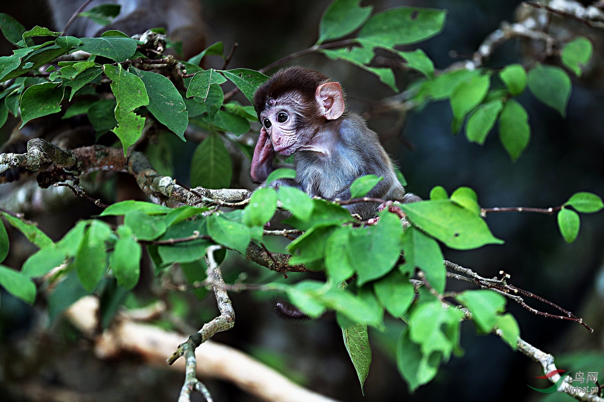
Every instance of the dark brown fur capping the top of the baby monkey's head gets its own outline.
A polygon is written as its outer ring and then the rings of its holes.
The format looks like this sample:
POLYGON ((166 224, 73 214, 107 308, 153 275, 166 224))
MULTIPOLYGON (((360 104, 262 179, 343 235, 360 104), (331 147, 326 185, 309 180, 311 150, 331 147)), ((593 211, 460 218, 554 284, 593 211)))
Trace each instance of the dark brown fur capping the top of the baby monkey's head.
POLYGON ((254 109, 260 118, 260 113, 270 106, 271 100, 295 92, 303 96, 309 109, 316 108, 316 87, 330 81, 326 75, 300 66, 281 69, 256 90, 254 109))

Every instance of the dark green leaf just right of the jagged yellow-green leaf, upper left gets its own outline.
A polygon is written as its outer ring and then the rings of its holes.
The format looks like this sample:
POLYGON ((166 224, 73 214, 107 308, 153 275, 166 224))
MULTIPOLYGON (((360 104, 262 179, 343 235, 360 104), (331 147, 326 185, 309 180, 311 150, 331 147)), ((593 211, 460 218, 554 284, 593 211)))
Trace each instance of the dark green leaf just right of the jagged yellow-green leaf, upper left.
POLYGON ((143 81, 149 95, 149 110, 158 121, 172 130, 181 140, 185 140, 188 113, 185 102, 172 81, 151 71, 132 69, 143 81))

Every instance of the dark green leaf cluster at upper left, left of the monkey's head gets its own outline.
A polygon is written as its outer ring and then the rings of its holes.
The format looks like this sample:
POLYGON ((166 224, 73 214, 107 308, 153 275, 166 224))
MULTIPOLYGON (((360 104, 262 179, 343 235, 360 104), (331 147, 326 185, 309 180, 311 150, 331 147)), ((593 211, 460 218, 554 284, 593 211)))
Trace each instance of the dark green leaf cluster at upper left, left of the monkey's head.
MULTIPOLYGON (((47 28, 25 30, 6 14, 0 14, 0 30, 18 47, 12 55, 0 57, 0 81, 10 83, 0 92, 0 126, 7 121, 9 112, 25 125, 32 119, 60 113, 69 103, 63 118, 86 115, 97 138, 112 131, 125 153, 143 134, 149 116, 182 140, 185 129, 193 125, 208 133, 208 137, 196 149, 191 164, 192 184, 207 188, 230 185, 230 155, 219 134, 245 134, 257 116, 251 105, 225 103, 220 84, 228 78, 251 99, 255 88, 268 77, 249 69, 200 68, 199 63, 206 55, 225 57, 222 43, 179 62, 179 68, 194 75, 184 79, 181 76, 181 82, 176 80, 175 85, 164 75, 146 71, 147 58, 137 50, 142 42, 119 31, 108 31, 98 38, 59 36, 60 33, 47 28), (35 45, 33 37, 52 40, 35 45), (91 56, 85 61, 59 61, 48 66, 58 57, 75 51, 91 56), (47 66, 47 74, 33 74, 42 66, 47 66), (101 84, 108 81, 114 98, 100 96, 101 84)), ((169 63, 169 59, 155 62, 169 63)))

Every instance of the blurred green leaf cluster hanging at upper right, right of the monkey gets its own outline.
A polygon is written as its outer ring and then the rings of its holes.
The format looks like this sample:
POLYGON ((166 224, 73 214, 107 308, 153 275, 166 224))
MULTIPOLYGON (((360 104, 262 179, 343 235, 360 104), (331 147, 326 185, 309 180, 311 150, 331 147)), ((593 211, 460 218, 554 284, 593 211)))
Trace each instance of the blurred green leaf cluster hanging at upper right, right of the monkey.
MULTIPOLYGON (((591 58, 591 42, 578 37, 562 49, 562 63, 577 76, 591 58)), ((529 71, 521 64, 509 64, 500 71, 490 69, 454 70, 416 84, 414 101, 449 100, 453 113, 452 131, 465 122, 466 137, 483 144, 499 120, 499 136, 512 160, 517 160, 530 141, 528 113, 515 98, 527 89, 539 101, 565 116, 571 80, 558 66, 536 63, 529 71)))

